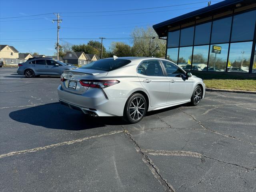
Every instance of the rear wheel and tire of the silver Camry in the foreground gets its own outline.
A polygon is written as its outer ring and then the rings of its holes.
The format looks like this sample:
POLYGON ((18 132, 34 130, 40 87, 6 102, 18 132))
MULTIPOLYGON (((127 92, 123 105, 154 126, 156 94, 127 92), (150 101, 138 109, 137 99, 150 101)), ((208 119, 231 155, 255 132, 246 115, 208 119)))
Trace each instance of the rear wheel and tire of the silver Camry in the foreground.
POLYGON ((146 114, 147 102, 145 97, 140 93, 132 94, 124 107, 124 120, 128 123, 137 123, 146 114))

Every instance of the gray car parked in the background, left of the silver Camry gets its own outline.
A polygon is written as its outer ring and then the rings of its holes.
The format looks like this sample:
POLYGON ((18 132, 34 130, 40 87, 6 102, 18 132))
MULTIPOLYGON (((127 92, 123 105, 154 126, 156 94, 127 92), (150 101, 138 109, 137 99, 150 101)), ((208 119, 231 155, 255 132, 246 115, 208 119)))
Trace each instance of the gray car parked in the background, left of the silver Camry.
POLYGON ((17 73, 27 78, 40 75, 60 76, 63 70, 72 70, 76 67, 71 64, 62 63, 52 58, 30 58, 24 63, 18 64, 17 73))

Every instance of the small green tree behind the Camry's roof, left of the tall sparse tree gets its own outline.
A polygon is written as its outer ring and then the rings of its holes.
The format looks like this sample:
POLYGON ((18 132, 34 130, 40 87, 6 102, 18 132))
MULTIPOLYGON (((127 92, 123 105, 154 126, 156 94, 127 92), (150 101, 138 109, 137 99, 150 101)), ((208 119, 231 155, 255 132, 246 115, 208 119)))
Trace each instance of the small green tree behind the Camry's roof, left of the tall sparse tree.
POLYGON ((118 57, 132 56, 132 48, 123 42, 112 42, 110 50, 112 54, 118 57))

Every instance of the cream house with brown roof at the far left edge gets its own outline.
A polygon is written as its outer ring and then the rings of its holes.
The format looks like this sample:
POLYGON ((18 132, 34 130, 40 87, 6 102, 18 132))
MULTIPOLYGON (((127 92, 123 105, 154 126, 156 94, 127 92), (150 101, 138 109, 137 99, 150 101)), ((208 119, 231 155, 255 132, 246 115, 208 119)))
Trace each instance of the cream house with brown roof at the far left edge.
POLYGON ((19 58, 19 52, 10 45, 0 45, 0 61, 4 62, 4 65, 17 65, 19 58))

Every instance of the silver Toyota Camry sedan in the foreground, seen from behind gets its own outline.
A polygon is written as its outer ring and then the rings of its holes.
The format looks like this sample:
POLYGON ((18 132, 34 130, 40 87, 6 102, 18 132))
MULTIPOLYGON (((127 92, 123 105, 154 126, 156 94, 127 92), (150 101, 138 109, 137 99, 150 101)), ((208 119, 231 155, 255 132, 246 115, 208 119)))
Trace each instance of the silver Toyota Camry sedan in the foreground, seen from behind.
POLYGON ((197 105, 205 95, 202 79, 160 58, 114 56, 66 70, 60 80, 61 104, 92 116, 123 116, 130 123, 148 111, 197 105))

